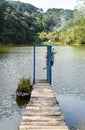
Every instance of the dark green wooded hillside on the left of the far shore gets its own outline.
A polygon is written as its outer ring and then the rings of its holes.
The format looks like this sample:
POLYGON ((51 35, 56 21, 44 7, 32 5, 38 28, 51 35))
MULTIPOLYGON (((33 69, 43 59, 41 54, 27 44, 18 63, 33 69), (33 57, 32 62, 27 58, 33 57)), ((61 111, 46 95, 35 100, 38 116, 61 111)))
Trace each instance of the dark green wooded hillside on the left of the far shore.
POLYGON ((39 27, 38 8, 19 1, 0 2, 0 43, 31 43, 39 27))

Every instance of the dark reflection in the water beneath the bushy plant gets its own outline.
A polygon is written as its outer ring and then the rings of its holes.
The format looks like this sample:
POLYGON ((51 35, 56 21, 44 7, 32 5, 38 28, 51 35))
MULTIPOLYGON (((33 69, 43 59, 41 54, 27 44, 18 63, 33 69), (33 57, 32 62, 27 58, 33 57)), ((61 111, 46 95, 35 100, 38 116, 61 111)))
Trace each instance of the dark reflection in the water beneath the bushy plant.
POLYGON ((16 97, 16 102, 18 106, 26 105, 30 101, 30 96, 25 96, 25 97, 16 97))

